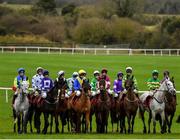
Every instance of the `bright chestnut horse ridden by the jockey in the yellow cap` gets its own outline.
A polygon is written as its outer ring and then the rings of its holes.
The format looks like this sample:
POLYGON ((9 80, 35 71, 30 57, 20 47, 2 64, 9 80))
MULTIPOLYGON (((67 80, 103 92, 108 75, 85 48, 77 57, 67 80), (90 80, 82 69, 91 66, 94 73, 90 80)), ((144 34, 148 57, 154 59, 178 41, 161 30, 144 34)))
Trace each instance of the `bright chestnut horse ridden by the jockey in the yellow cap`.
POLYGON ((85 116, 85 132, 88 132, 91 109, 91 102, 89 98, 91 92, 90 90, 91 87, 89 80, 84 80, 80 97, 74 101, 76 95, 73 93, 68 99, 68 109, 71 111, 71 125, 78 133, 81 132, 82 115, 85 116))

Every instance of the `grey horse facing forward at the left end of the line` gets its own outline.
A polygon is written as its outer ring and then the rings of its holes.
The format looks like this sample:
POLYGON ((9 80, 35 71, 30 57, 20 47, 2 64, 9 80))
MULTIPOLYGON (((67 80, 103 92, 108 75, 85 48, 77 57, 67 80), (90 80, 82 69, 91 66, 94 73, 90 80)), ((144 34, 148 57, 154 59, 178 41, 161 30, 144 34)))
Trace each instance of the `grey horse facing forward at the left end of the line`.
POLYGON ((23 81, 18 89, 18 96, 14 101, 13 105, 13 116, 14 116, 14 132, 16 132, 16 124, 18 123, 18 133, 27 133, 27 122, 28 122, 28 110, 29 100, 27 98, 29 84, 27 81, 23 81), (22 114, 22 115, 21 115, 22 114), (22 122, 21 122, 22 120, 22 122), (21 129, 22 123, 22 129, 21 129))

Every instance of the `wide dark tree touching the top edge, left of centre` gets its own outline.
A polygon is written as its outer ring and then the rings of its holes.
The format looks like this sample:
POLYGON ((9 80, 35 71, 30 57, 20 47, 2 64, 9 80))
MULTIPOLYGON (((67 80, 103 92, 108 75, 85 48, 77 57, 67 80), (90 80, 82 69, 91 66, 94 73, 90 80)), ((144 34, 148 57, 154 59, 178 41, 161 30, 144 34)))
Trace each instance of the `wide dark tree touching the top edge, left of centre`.
POLYGON ((56 15, 56 3, 55 0, 39 0, 34 6, 33 11, 38 13, 45 13, 50 15, 56 15))

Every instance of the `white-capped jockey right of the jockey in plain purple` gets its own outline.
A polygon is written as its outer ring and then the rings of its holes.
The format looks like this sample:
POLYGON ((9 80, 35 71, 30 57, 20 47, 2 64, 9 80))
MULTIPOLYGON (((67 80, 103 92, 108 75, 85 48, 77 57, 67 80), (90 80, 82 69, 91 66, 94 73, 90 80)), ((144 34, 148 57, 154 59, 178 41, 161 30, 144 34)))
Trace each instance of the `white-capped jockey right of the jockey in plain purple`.
MULTIPOLYGON (((133 69, 132 67, 127 67, 126 68, 126 75, 123 77, 123 86, 125 85, 125 81, 129 78, 132 78, 132 72, 133 69)), ((136 78, 133 76, 133 81, 134 81, 134 93, 138 96, 138 87, 137 87, 137 80, 136 78)), ((126 89, 124 88, 124 93, 126 93, 126 89)))

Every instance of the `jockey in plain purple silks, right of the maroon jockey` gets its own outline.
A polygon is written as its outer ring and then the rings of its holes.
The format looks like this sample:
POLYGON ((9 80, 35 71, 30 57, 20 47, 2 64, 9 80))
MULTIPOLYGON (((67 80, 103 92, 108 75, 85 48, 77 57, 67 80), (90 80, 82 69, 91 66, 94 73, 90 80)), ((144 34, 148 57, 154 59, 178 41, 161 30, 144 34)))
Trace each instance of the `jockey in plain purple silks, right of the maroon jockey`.
POLYGON ((114 80, 114 86, 113 86, 113 91, 114 91, 114 97, 115 98, 117 98, 119 96, 119 94, 124 90, 124 88, 122 86, 123 85, 122 80, 123 80, 123 73, 118 72, 117 79, 114 80))

